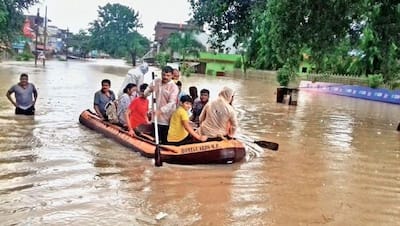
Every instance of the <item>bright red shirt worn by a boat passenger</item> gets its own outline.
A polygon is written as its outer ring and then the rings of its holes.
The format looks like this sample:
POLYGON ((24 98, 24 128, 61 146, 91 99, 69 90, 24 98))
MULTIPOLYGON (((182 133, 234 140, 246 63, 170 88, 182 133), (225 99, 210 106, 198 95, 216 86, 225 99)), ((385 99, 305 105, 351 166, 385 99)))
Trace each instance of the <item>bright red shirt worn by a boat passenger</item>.
POLYGON ((129 110, 131 111, 129 120, 131 121, 132 129, 140 124, 147 123, 149 100, 147 98, 138 97, 131 102, 129 110))

